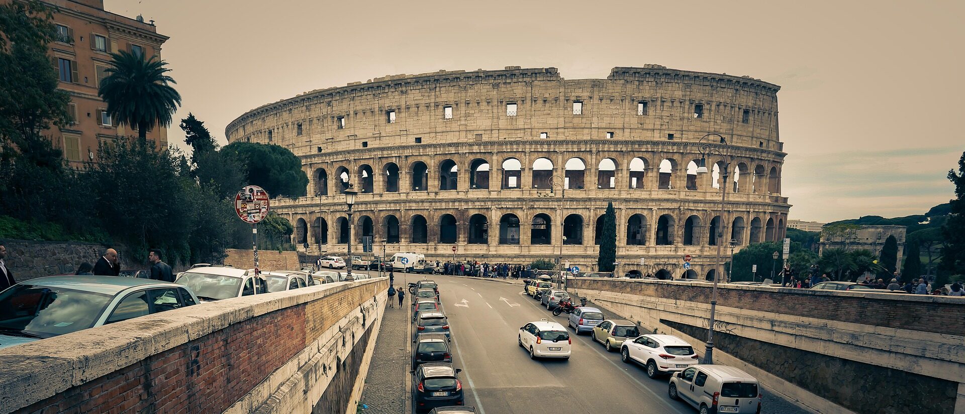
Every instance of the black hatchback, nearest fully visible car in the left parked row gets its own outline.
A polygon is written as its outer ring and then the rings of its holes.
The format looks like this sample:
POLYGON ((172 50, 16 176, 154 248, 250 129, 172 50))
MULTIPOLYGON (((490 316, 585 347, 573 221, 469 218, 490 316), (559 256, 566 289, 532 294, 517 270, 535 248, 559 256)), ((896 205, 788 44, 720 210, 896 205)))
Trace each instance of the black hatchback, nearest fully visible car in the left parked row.
POLYGON ((462 381, 458 378, 461 372, 453 368, 453 364, 445 363, 427 363, 410 371, 415 375, 412 380, 412 401, 415 402, 416 412, 461 404, 462 381))

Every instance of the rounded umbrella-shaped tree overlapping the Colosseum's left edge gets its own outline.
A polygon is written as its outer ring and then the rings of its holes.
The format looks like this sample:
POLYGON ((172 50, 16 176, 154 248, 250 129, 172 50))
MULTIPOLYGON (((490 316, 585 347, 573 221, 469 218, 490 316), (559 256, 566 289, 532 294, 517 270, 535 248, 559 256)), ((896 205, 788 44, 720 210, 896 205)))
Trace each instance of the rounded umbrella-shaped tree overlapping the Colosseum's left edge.
POLYGON ((308 175, 302 170, 301 160, 288 148, 261 142, 232 142, 219 152, 235 154, 247 166, 247 183, 262 187, 271 196, 307 194, 308 175))

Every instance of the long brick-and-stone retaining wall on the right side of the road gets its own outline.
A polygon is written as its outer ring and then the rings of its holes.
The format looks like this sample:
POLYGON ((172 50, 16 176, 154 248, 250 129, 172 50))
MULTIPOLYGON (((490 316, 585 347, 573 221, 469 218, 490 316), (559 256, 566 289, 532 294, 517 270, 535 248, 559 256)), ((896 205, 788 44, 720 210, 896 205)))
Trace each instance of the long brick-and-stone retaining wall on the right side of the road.
MULTIPOLYGON (((573 278, 570 292, 703 354, 710 285, 573 278)), ((715 363, 819 413, 965 412, 965 299, 720 287, 715 363)))

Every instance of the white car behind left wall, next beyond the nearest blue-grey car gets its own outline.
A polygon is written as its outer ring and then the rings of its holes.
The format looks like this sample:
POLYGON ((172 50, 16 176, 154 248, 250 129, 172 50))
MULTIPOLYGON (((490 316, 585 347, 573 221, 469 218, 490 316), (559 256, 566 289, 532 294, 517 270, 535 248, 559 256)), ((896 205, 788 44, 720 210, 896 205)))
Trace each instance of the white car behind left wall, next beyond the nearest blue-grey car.
POLYGON ((247 297, 267 293, 262 276, 243 269, 208 267, 179 274, 175 283, 191 288, 201 301, 247 297))

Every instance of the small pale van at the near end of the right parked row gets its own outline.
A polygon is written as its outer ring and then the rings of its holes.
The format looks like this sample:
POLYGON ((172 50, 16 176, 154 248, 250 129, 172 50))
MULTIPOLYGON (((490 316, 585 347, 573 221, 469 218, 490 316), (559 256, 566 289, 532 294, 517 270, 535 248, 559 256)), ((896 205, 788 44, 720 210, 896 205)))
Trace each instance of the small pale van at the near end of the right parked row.
POLYGON ((695 365, 674 374, 667 394, 693 405, 701 414, 759 414, 763 398, 757 378, 724 365, 695 365))

